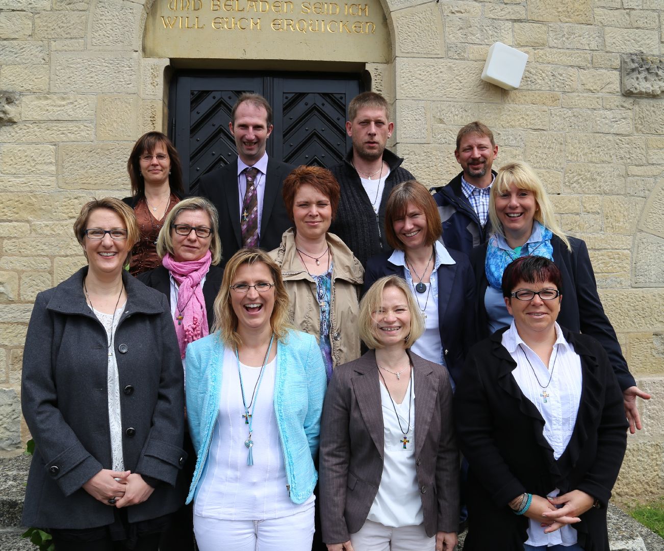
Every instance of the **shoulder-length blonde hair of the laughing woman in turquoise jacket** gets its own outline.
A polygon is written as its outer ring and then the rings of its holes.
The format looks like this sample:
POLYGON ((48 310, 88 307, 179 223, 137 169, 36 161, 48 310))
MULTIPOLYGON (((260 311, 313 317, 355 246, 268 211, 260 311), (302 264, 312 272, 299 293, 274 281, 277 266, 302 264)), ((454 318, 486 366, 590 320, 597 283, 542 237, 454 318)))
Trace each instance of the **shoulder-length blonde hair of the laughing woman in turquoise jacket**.
POLYGON ((224 278, 221 282, 216 298, 214 299, 214 325, 212 331, 220 331, 219 338, 226 346, 236 348, 242 346, 242 339, 238 335, 238 316, 230 302, 230 288, 240 266, 263 263, 268 267, 274 278, 274 309, 270 316, 270 327, 274 336, 284 342, 288 330, 293 328, 288 316, 288 292, 282 278, 282 271, 270 255, 261 249, 240 249, 235 253, 224 268, 224 278))

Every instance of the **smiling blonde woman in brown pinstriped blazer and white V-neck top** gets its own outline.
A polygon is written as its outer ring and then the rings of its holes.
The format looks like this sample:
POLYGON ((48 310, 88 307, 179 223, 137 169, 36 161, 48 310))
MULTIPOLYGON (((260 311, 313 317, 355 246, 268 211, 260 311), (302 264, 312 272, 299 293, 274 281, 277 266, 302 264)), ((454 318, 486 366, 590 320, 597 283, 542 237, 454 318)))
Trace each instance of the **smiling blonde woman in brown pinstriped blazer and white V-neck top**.
POLYGON ((398 276, 378 279, 361 301, 359 332, 370 350, 335 369, 321 419, 321 524, 329 551, 456 545, 452 389, 444 367, 408 350, 423 330, 398 276))

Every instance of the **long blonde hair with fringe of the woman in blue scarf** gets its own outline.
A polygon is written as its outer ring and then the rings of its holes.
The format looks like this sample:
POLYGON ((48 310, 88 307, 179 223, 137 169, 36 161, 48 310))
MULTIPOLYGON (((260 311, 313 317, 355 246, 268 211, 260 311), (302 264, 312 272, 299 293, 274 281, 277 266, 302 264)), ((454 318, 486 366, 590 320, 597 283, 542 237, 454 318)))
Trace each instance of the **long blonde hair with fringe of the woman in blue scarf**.
POLYGON ((497 175, 491 185, 491 197, 489 199, 489 219, 491 219, 491 226, 493 231, 505 237, 503 225, 498 218, 496 212, 495 199, 502 193, 509 193, 509 188, 514 185, 517 189, 527 189, 532 191, 535 196, 535 220, 542 224, 547 229, 550 229, 553 235, 557 235, 567 248, 572 251, 570 240, 562 231, 562 228, 556 221, 554 215, 553 205, 546 195, 546 190, 542 181, 539 179, 535 171, 527 164, 522 162, 512 162, 501 167, 497 171, 497 175))

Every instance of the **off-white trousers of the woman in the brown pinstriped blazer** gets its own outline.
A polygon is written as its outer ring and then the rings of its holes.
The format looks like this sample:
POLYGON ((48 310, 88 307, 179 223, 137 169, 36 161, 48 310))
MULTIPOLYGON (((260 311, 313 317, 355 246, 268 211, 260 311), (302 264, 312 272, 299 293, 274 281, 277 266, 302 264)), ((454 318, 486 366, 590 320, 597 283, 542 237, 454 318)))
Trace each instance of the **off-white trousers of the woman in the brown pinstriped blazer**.
POLYGON ((351 534, 355 551, 434 551, 436 536, 428 537, 424 524, 390 528, 367 520, 359 532, 351 534))

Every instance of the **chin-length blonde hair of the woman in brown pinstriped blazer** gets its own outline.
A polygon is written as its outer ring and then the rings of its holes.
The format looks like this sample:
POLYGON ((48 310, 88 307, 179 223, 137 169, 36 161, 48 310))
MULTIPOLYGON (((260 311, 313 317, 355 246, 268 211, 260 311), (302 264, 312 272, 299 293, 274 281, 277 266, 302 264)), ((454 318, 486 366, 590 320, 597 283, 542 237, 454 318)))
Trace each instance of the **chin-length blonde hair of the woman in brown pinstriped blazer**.
POLYGON ((371 350, 383 348, 383 344, 376 336, 378 324, 374 320, 373 314, 379 312, 380 308, 382 308, 382 293, 388 287, 396 287, 406 296, 406 304, 408 304, 408 310, 410 311, 410 332, 404 341, 404 348, 413 346, 415 341, 424 333, 422 311, 415 302, 415 298, 412 292, 410 292, 406 280, 396 275, 384 276, 374 282, 360 301, 358 324, 360 338, 365 342, 367 348, 371 348, 371 350))

